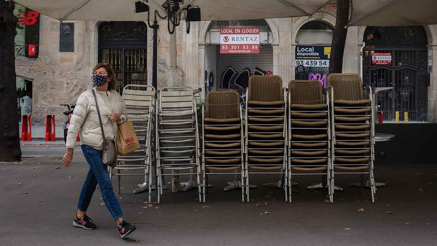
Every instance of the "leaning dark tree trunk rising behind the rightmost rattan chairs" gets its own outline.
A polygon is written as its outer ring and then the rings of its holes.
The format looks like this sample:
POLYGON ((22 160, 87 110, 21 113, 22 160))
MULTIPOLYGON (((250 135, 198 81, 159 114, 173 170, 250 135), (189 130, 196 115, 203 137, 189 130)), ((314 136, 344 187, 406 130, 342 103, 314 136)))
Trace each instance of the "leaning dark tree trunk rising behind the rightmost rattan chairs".
POLYGON ((343 53, 346 43, 349 21, 349 0, 337 0, 337 15, 334 35, 332 37, 331 58, 329 59, 329 73, 341 73, 343 69, 343 53))

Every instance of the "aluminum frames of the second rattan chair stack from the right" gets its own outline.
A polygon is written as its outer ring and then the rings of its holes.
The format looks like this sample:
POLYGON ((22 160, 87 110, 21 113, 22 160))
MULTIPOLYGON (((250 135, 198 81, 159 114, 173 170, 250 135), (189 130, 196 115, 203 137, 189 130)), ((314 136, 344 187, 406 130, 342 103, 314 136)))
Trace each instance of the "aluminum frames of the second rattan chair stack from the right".
MULTIPOLYGON (((302 109, 302 110, 292 110, 292 108, 291 108, 291 92, 289 91, 288 92, 288 104, 287 104, 287 106, 288 106, 288 120, 287 120, 287 125, 288 125, 288 177, 289 177, 289 180, 288 180, 288 184, 292 184, 292 180, 291 180, 291 178, 292 178, 292 176, 293 175, 326 175, 326 185, 327 185, 327 188, 328 188, 328 194, 329 194, 329 201, 332 203, 333 202, 333 193, 332 193, 332 189, 331 189, 331 186, 332 186, 332 180, 331 180, 331 169, 332 169, 332 167, 331 167, 331 164, 332 164, 332 162, 331 162, 331 140, 332 140, 332 135, 331 135, 331 124, 330 124, 330 111, 329 111, 329 102, 330 102, 330 100, 329 100, 329 93, 328 93, 328 91, 326 91, 326 93, 325 93, 325 99, 324 99, 324 104, 326 104, 326 109, 325 110, 315 110, 315 111, 308 111, 308 110, 305 110, 305 109, 302 109), (326 113, 326 119, 314 119, 314 117, 311 119, 308 119, 308 118, 296 118, 296 119, 293 119, 292 117, 291 117, 291 113, 293 113, 293 112, 296 112, 296 113, 326 113), (317 128, 305 128, 305 127, 299 127, 299 128, 296 128, 296 127, 292 127, 292 124, 291 124, 291 121, 308 121, 308 122, 311 122, 311 121, 326 121, 326 127, 317 127, 317 128), (299 139, 296 139, 296 141, 295 141, 295 139, 293 139, 293 137, 292 137, 292 135, 293 135, 293 129, 299 129, 299 130, 326 130, 326 135, 327 135, 327 137, 326 137, 326 140, 319 140, 319 141, 302 141, 302 140, 300 140, 299 141, 299 139), (293 142, 298 142, 298 143, 308 143, 308 142, 325 142, 326 141, 326 144, 327 144, 327 146, 326 146, 326 148, 316 148, 316 149, 314 149, 314 148, 312 148, 312 149, 294 149, 293 147, 292 147, 292 143, 293 142), (302 157, 302 156, 297 156, 297 157, 291 157, 292 156, 292 151, 326 151, 326 156, 325 157, 322 157, 322 156, 319 156, 319 157, 302 157), (293 159, 326 159, 326 164, 325 165, 318 165, 318 164, 312 164, 312 165, 293 165, 293 159), (318 173, 315 173, 315 172, 313 172, 313 171, 311 171, 311 170, 302 170, 303 171, 303 173, 302 172, 299 172, 299 173, 293 173, 292 172, 292 170, 294 169, 294 168, 321 168, 321 167, 326 167, 326 171, 325 172, 322 172, 323 170, 319 170, 320 172, 318 172, 318 173)), ((310 105, 310 104, 309 104, 310 105)), ((322 182, 322 184, 323 184, 323 182, 322 182)), ((288 186, 288 194, 289 194, 289 199, 288 199, 288 201, 291 203, 291 185, 289 185, 288 186)))

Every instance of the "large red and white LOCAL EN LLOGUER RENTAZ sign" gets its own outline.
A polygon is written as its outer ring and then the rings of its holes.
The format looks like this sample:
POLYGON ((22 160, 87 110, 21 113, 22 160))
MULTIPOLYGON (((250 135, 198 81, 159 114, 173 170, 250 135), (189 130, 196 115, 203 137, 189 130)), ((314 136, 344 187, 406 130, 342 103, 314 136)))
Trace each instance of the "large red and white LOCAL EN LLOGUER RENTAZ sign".
POLYGON ((221 28, 220 53, 260 53, 260 28, 221 28))

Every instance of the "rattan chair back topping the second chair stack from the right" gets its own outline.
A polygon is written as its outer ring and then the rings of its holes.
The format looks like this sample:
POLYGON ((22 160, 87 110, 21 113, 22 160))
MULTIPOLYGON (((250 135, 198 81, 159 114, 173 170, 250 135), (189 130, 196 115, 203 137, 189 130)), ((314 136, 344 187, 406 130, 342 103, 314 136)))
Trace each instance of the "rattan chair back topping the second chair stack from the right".
POLYGON ((322 84, 318 80, 291 80, 288 92, 291 104, 323 104, 322 84))

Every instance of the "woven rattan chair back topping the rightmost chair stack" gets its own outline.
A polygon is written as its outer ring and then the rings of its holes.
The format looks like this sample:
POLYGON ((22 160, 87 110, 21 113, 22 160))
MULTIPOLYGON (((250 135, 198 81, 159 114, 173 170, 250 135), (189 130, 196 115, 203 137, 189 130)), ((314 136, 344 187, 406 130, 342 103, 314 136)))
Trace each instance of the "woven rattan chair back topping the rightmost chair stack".
POLYGON ((327 80, 328 87, 334 88, 334 100, 363 100, 363 84, 357 73, 331 73, 327 80))

